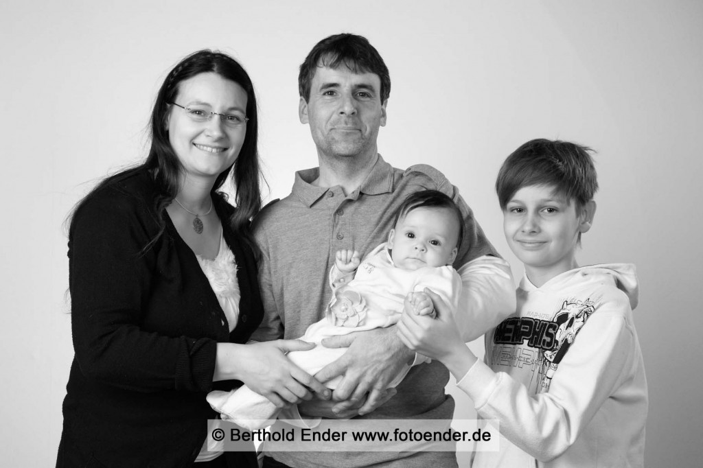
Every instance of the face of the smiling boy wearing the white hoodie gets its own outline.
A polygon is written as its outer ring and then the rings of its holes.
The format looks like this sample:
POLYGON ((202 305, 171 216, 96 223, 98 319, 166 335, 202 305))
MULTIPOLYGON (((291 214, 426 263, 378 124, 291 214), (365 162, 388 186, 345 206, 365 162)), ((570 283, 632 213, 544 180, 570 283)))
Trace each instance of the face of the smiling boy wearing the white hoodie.
POLYGON ((503 230, 530 280, 543 283, 576 268, 576 242, 591 228, 594 211, 591 201, 577 215, 576 202, 557 195, 553 186, 517 190, 503 212, 503 230))

